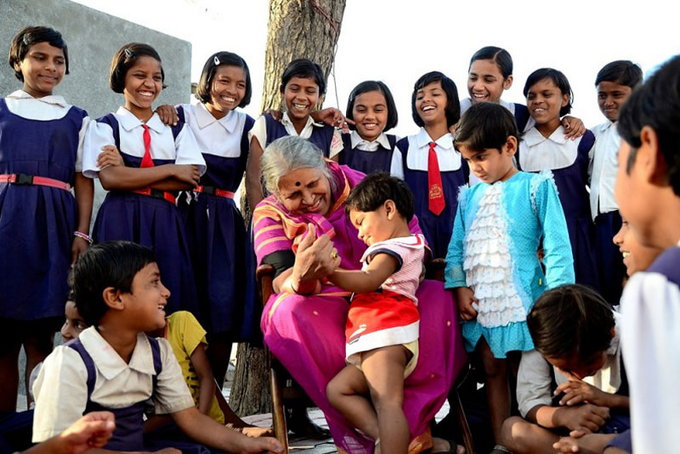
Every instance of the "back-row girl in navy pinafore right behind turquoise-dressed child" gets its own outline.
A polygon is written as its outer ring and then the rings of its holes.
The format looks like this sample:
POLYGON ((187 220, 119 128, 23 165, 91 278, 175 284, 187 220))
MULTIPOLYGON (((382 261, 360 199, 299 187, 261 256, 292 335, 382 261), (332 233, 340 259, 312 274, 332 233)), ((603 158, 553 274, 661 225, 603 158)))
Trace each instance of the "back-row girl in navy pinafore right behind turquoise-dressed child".
POLYGON ((565 138, 560 118, 571 111, 573 95, 562 72, 552 68, 534 71, 524 85, 524 95, 535 125, 524 133, 518 166, 526 172, 552 171, 569 228, 576 282, 599 290, 587 189, 595 136, 586 131, 576 140, 565 138))

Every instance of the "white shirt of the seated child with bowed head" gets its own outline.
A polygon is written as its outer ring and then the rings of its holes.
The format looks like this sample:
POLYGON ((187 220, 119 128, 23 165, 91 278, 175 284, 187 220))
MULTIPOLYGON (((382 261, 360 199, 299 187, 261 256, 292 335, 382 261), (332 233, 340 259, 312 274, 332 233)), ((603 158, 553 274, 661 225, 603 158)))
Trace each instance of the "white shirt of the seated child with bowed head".
MULTIPOLYGON (((616 393, 621 387, 621 315, 614 312, 614 320, 616 334, 607 349, 602 368, 592 377, 583 379, 584 382, 610 394, 616 393)), ((538 405, 552 405, 555 391, 553 376, 557 385, 568 381, 567 377, 536 350, 522 352, 517 372, 517 404, 523 418, 538 405)))

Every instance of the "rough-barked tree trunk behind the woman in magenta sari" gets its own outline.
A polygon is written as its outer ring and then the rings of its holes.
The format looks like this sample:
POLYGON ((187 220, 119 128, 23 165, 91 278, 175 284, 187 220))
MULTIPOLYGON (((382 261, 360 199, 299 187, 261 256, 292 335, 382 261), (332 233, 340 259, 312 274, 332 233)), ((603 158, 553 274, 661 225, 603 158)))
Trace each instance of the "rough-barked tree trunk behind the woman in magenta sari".
MULTIPOLYGON (((292 60, 309 58, 321 66, 328 79, 344 12, 345 0, 270 0, 263 112, 281 109, 281 75, 292 60)), ((241 209, 250 224, 251 210, 245 191, 241 209)), ((237 414, 271 411, 268 371, 269 364, 261 347, 239 344, 229 400, 237 414)))

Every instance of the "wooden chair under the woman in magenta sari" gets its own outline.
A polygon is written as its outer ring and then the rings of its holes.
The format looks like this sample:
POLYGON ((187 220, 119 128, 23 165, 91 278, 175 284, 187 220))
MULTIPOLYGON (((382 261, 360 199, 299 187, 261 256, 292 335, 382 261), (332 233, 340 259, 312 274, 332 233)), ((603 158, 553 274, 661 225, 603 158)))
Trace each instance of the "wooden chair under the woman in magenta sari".
MULTIPOLYGON (((428 266, 426 276, 430 279, 444 280, 444 260, 435 259, 428 266)), ((260 296, 260 301, 264 307, 269 297, 273 293, 272 281, 274 280, 274 268, 271 265, 260 265, 256 271, 257 286, 260 296)), ((281 365, 272 358, 271 353, 265 347, 267 359, 270 361, 269 368, 269 386, 272 394, 272 422, 274 425, 274 436, 281 442, 284 447, 283 452, 288 453, 288 429, 286 427, 285 407, 284 407, 284 389, 285 383, 282 379, 281 365)), ((464 376, 465 374, 461 374, 464 376)), ((474 442, 472 439, 472 432, 468 424, 467 417, 463 412, 463 406, 458 395, 458 385, 462 380, 457 380, 456 385, 449 394, 450 411, 456 415, 458 429, 463 437, 463 445, 468 454, 475 454, 474 442)))

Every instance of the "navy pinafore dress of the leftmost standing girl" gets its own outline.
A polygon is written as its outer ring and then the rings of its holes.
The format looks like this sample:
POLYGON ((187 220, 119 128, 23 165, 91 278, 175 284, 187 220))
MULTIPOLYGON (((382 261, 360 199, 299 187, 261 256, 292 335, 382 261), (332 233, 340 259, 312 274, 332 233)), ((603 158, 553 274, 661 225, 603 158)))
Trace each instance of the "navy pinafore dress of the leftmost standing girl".
MULTIPOLYGON (((86 117, 68 106, 62 118, 24 118, 0 99, 0 174, 47 177, 73 187, 86 117)), ((70 190, 23 183, 0 182, 0 318, 63 316, 76 202, 70 190)))

